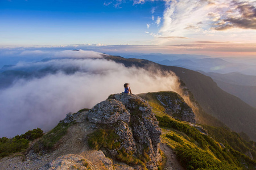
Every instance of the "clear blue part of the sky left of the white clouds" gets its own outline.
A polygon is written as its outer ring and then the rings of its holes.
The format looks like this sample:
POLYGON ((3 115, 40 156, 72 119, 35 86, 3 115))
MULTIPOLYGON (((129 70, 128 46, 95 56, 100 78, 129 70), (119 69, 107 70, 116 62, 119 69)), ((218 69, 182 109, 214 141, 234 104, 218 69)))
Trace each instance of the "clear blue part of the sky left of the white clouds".
MULTIPOLYGON (((125 3, 106 6, 106 1, 7 1, 1 0, 0 45, 139 44, 151 36, 147 22, 152 7, 125 3), (105 5, 104 5, 105 3, 105 5)), ((159 9, 162 13, 163 9, 159 9)), ((152 28, 154 29, 154 28, 152 28)))

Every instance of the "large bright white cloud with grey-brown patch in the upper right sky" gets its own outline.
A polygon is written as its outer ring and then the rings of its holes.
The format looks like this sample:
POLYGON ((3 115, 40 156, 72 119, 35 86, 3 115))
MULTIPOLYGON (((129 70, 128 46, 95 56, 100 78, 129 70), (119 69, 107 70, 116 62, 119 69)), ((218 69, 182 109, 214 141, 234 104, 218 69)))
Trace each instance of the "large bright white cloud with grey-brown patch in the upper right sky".
MULTIPOLYGON (((241 32, 246 29, 256 29, 256 1, 251 0, 165 0, 163 16, 155 21, 162 25, 158 32, 152 35, 162 37, 193 37, 194 39, 223 39, 236 37, 244 39, 241 32), (238 30, 239 29, 239 30, 238 30), (238 34, 236 35, 236 32, 238 34)), ((251 32, 250 32, 251 33, 251 32)), ((251 33, 253 35, 253 33, 251 33)), ((256 38, 256 32, 254 36, 256 38)), ((167 40, 160 40, 157 44, 166 44, 167 40)))

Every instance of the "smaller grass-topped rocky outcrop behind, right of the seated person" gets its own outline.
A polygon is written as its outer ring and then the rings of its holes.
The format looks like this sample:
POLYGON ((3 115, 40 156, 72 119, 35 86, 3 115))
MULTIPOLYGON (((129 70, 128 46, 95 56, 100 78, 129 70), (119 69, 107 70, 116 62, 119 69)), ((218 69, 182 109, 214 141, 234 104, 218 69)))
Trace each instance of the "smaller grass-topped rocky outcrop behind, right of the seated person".
POLYGON ((185 103, 184 99, 176 92, 162 91, 141 94, 139 96, 142 96, 149 101, 154 100, 154 102, 162 105, 165 112, 174 118, 178 118, 181 121, 196 123, 195 113, 193 113, 191 107, 189 107, 188 104, 185 103))

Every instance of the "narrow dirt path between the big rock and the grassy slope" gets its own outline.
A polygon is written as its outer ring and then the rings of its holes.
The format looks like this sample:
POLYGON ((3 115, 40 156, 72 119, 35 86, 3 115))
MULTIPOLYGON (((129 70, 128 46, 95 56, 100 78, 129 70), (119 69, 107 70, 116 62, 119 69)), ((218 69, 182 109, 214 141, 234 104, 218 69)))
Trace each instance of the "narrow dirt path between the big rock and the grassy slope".
POLYGON ((166 143, 160 143, 160 150, 166 154, 167 162, 166 167, 164 167, 165 170, 185 170, 185 168, 181 167, 174 151, 166 143))

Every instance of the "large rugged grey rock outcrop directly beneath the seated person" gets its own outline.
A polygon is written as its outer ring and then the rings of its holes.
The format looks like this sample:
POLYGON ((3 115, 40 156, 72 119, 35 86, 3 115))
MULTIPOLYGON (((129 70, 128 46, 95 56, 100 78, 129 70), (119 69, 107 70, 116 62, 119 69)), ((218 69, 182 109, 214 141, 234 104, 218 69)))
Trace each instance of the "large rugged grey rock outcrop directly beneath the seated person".
MULTIPOLYGON (((104 125, 119 136, 118 148, 105 148, 113 158, 118 158, 120 152, 128 153, 144 162, 147 169, 158 169, 162 130, 150 105, 141 97, 125 93, 110 95, 90 109, 87 118, 98 128, 104 125)), ((143 167, 137 165, 135 169, 143 167)))

